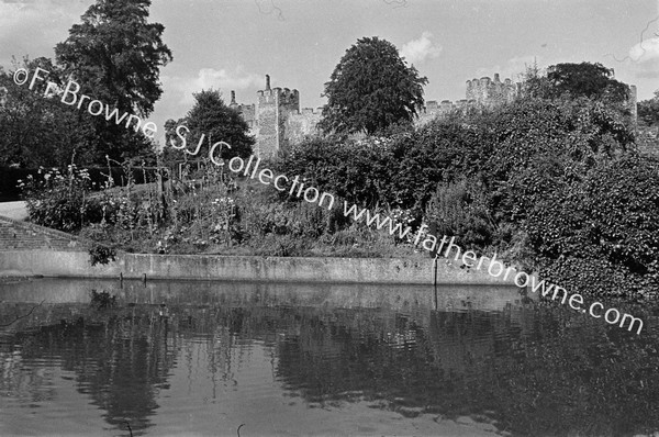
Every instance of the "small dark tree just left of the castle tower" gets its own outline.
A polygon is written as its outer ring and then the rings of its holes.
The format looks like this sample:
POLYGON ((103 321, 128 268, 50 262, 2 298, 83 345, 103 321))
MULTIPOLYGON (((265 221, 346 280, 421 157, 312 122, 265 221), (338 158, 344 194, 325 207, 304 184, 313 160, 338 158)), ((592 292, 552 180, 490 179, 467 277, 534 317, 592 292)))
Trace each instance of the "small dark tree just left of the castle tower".
POLYGON ((209 156, 214 144, 224 142, 231 149, 217 145, 213 150, 214 159, 249 156, 255 143, 248 135, 249 126, 237 111, 224 103, 220 91, 202 90, 193 96, 194 107, 185 119, 167 121, 166 147, 185 149, 188 154, 201 157, 209 156))

